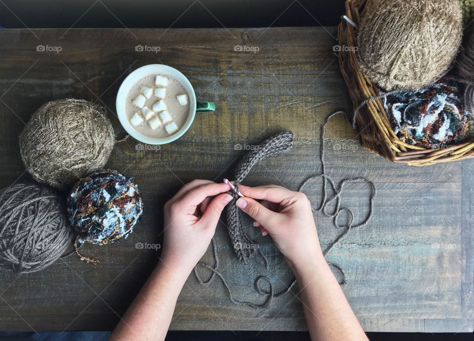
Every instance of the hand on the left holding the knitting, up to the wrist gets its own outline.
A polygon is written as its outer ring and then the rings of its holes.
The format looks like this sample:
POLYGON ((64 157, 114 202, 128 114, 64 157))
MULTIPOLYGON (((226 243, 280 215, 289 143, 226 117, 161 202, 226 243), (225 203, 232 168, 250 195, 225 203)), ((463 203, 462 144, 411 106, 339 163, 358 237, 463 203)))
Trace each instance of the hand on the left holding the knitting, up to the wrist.
POLYGON ((228 190, 224 183, 194 180, 166 202, 161 253, 166 265, 191 272, 206 252, 222 210, 232 200, 225 193, 228 190))

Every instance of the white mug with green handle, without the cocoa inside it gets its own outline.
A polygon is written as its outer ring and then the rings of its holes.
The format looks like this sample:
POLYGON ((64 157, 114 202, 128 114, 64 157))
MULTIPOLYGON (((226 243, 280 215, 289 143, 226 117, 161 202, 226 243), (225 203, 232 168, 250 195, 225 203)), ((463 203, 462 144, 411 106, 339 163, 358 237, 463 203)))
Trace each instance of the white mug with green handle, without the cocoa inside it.
POLYGON ((120 124, 130 136, 140 142, 147 143, 149 145, 164 145, 173 142, 174 140, 179 139, 181 136, 183 136, 183 134, 188 131, 189 127, 193 123, 194 117, 196 116, 197 112, 214 111, 216 109, 216 105, 212 102, 197 102, 196 93, 194 92, 193 85, 191 85, 190 81, 188 80, 188 78, 186 78, 186 76, 184 76, 175 68, 163 64, 150 64, 136 69, 123 80, 117 93, 116 109, 120 124), (156 74, 173 77, 184 86, 186 92, 189 95, 190 108, 188 119, 176 133, 164 138, 154 138, 143 135, 142 133, 138 132, 131 125, 130 121, 128 120, 127 113, 125 111, 127 96, 133 85, 135 85, 135 83, 137 83, 143 77, 156 74))

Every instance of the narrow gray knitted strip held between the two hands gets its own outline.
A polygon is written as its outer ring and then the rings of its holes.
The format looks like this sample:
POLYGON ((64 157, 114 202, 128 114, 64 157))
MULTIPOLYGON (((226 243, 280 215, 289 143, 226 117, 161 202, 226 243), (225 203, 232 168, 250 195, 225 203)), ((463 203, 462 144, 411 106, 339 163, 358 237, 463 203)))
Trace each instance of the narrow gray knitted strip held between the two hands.
MULTIPOLYGON (((264 141, 255 148, 254 151, 247 153, 237 165, 234 184, 238 186, 252 167, 260 160, 267 156, 276 155, 291 149, 294 139, 295 134, 293 134, 293 132, 282 132, 264 141)), ((250 239, 245 232, 245 227, 242 222, 242 211, 236 205, 238 199, 237 192, 232 191, 231 194, 234 196, 234 200, 227 206, 227 227, 229 229, 229 236, 231 237, 232 245, 238 259, 247 265, 254 251, 258 251, 259 253, 262 251, 257 246, 258 244, 250 239)), ((263 257, 263 259, 266 267, 268 267, 266 257, 263 257)))

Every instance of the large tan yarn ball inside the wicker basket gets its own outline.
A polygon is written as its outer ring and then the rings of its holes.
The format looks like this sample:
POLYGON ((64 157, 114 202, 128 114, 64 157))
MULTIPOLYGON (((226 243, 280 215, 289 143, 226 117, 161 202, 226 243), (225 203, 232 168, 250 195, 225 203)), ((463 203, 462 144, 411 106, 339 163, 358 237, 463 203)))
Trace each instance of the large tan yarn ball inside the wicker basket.
POLYGON ((442 76, 461 44, 458 0, 368 0, 357 36, 360 69, 386 90, 442 76))

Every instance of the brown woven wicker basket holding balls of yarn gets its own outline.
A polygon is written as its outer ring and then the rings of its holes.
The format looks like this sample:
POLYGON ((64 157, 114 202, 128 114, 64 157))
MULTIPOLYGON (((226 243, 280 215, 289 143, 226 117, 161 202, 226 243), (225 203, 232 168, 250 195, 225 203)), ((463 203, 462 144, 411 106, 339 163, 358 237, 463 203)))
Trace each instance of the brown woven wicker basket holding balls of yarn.
MULTIPOLYGON (((365 3, 366 0, 346 1, 346 15, 356 25, 360 22, 360 13, 365 3)), ((344 18, 338 27, 337 35, 340 46, 357 46, 357 29, 344 18)), ((338 58, 356 110, 364 100, 378 95, 379 90, 360 71, 354 48, 341 49, 338 58)), ((474 156, 474 142, 443 146, 440 149, 425 149, 402 142, 392 130, 381 100, 374 100, 363 106, 356 116, 356 122, 362 146, 396 163, 426 166, 474 156)))

